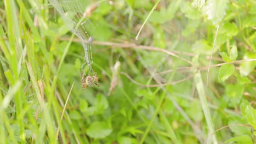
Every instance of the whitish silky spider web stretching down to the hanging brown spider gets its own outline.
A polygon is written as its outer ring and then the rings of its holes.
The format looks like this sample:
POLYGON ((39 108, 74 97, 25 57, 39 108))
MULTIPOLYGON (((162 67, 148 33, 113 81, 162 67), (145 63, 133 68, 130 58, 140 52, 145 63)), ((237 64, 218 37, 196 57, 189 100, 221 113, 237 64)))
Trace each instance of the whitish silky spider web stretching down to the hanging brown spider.
POLYGON ((79 0, 49 0, 49 2, 58 13, 60 13, 63 20, 71 25, 71 32, 82 40, 85 52, 84 64, 81 67, 82 72, 84 65, 88 64, 89 73, 95 75, 95 72, 92 69, 93 61, 91 52, 91 43, 94 38, 86 32, 86 23, 90 23, 90 20, 86 17, 85 7, 82 7, 83 4, 79 0))

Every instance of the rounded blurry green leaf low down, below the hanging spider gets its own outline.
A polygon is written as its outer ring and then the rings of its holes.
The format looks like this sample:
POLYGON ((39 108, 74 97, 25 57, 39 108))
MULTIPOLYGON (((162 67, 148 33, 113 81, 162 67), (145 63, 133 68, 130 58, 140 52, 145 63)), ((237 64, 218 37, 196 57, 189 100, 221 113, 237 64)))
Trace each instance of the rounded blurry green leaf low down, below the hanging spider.
POLYGON ((93 122, 86 131, 86 134, 94 139, 102 139, 111 133, 112 128, 105 122, 93 122))

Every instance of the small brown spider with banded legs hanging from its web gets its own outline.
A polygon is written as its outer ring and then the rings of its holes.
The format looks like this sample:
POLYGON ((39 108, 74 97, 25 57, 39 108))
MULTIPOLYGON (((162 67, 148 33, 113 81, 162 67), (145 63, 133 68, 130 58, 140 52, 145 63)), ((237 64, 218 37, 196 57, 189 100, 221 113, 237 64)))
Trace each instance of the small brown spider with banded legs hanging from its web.
POLYGON ((94 85, 99 87, 100 85, 98 85, 98 75, 97 74, 95 74, 94 76, 88 75, 85 78, 83 76, 82 80, 81 80, 81 85, 82 85, 83 90, 86 87, 92 87, 94 85))

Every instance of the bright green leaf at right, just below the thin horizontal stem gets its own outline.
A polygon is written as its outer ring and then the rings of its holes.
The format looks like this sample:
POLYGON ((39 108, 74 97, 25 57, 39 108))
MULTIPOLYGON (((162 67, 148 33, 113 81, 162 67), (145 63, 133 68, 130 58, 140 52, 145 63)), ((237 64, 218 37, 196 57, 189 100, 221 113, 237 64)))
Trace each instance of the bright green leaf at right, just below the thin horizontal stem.
POLYGON ((235 71, 234 65, 225 64, 219 69, 219 81, 225 81, 228 79, 235 71))

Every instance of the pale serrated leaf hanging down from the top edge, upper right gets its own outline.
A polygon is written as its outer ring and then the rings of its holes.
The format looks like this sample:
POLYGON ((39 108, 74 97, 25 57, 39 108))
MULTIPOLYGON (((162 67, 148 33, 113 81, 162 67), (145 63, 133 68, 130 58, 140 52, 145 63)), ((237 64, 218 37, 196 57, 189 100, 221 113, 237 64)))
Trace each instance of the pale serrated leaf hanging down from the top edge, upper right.
POLYGON ((208 0, 206 3, 206 14, 209 20, 213 22, 213 25, 218 23, 226 15, 226 8, 228 7, 228 0, 208 0))

